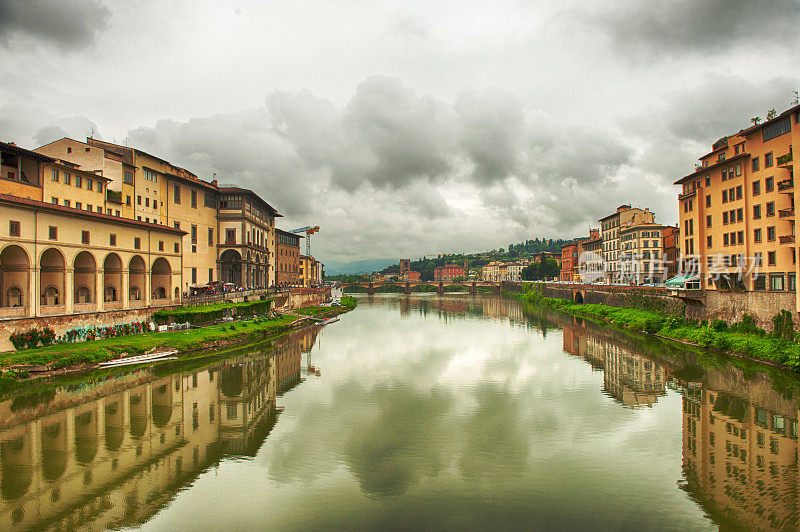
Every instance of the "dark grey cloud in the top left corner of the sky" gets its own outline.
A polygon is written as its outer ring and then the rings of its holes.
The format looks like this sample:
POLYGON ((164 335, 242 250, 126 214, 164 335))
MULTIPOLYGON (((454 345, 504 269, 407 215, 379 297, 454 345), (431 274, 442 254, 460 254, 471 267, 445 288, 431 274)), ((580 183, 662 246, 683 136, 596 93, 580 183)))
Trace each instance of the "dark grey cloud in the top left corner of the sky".
POLYGON ((110 17, 111 11, 99 0, 3 0, 0 43, 23 37, 64 50, 85 48, 108 27, 110 17))

